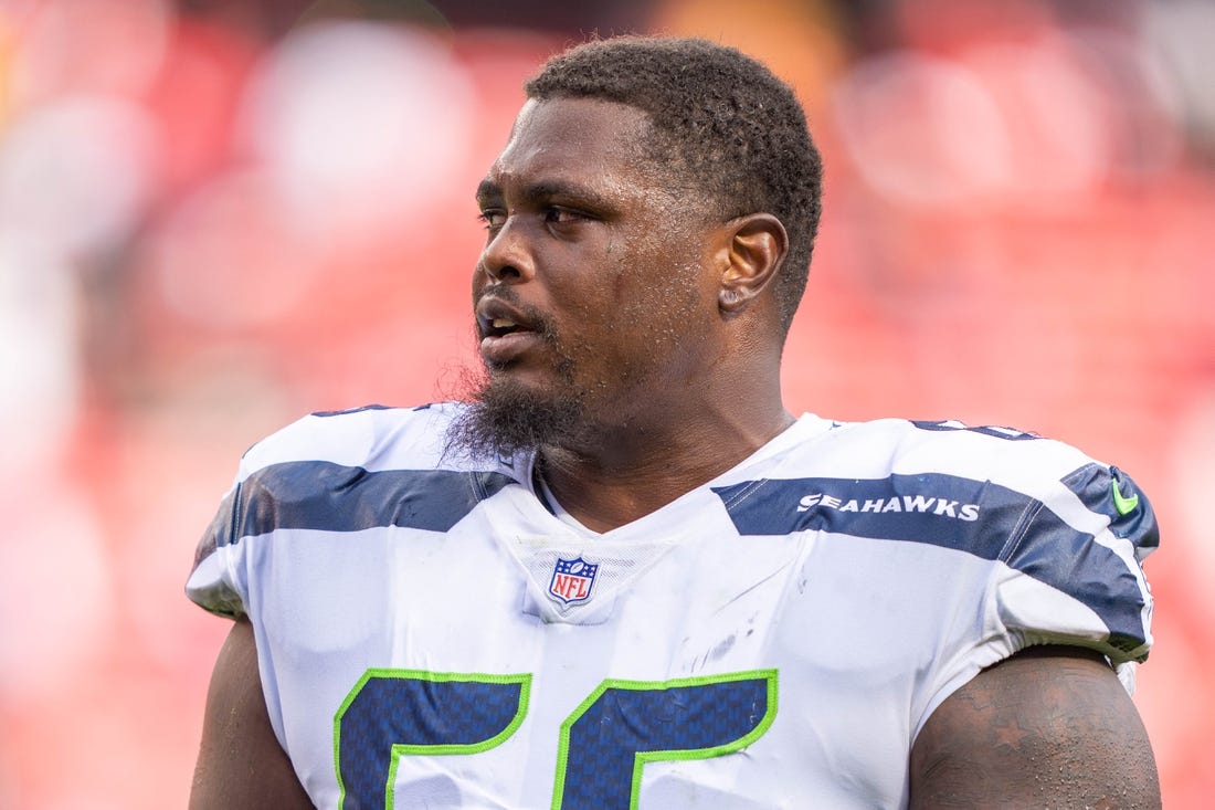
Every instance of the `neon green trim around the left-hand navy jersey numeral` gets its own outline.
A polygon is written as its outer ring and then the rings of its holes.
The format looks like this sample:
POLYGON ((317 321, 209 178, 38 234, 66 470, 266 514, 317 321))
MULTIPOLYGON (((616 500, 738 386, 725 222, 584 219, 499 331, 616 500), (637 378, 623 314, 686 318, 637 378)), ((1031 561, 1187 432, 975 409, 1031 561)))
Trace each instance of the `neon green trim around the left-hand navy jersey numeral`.
POLYGON ((519 708, 515 716, 505 729, 488 739, 477 743, 452 744, 452 746, 417 746, 407 743, 394 743, 389 753, 388 778, 384 786, 384 810, 392 810, 395 804, 396 771, 401 764, 401 756, 407 754, 425 754, 437 756, 443 754, 480 754, 481 752, 497 748, 505 742, 527 716, 527 707, 531 698, 530 674, 521 675, 487 675, 485 673, 429 673, 422 669, 368 669, 363 673, 358 682, 355 684, 346 699, 338 707, 338 713, 333 718, 333 771, 338 775, 338 808, 343 808, 346 801, 346 786, 341 782, 341 719, 350 708, 358 693, 373 679, 395 677, 412 681, 430 681, 433 684, 447 684, 451 681, 465 681, 471 684, 519 684, 519 708))

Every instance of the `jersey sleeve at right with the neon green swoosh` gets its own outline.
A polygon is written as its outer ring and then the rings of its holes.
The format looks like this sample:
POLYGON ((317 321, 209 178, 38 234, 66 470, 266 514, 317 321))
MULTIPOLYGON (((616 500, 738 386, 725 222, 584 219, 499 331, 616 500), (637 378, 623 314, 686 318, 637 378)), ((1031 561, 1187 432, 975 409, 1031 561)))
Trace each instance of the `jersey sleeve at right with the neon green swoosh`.
POLYGON ((1096 649, 1132 691, 1131 666, 1152 647, 1152 594, 1142 561, 1159 544, 1147 496, 1117 467, 1087 463, 1033 502, 1005 546, 994 587, 1017 648, 1096 649))

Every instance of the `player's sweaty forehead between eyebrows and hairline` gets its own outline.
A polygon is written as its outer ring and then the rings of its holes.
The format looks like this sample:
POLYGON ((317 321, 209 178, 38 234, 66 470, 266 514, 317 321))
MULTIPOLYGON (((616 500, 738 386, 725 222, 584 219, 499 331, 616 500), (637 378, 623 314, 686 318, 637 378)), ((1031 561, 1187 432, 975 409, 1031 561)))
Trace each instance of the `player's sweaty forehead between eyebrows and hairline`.
POLYGON ((571 180, 597 187, 625 187, 645 179, 645 113, 595 99, 530 100, 515 118, 510 140, 488 180, 571 180))

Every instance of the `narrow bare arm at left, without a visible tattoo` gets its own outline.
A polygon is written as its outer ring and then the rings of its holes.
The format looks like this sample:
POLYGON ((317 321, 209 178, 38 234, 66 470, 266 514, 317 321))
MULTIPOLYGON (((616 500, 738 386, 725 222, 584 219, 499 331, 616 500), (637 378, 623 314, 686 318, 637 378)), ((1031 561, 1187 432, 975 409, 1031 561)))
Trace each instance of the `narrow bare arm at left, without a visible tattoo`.
POLYGON ((312 808, 270 726, 248 619, 236 621, 215 662, 190 808, 312 808))

